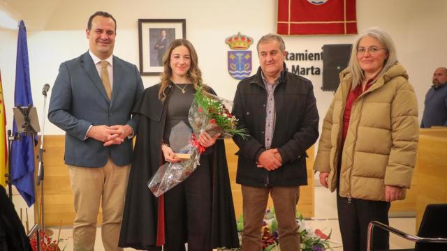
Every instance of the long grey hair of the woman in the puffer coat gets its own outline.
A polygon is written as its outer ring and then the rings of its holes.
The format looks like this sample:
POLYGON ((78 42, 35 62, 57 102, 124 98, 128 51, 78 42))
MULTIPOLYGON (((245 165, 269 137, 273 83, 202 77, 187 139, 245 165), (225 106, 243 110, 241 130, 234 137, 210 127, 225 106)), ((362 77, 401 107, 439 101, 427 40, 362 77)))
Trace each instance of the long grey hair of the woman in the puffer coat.
POLYGON ((365 73, 363 73, 363 70, 362 68, 360 68, 360 64, 358 63, 357 60, 357 50, 360 40, 362 40, 362 38, 365 38, 367 36, 379 40, 379 43, 381 43, 381 45, 385 47, 388 52, 388 57, 385 59, 385 62, 383 62, 383 68, 380 71, 377 78, 382 77, 387 70, 389 70, 392 66, 395 65, 395 63, 397 63, 396 47, 390 35, 388 35, 388 33, 386 33, 385 31, 382 31, 381 29, 376 27, 367 29, 364 33, 361 33, 360 35, 357 36, 356 42, 354 42, 352 47, 351 59, 349 59, 349 65, 348 65, 348 70, 352 74, 351 89, 356 88, 356 86, 360 84, 360 82, 363 79, 365 79, 365 73))

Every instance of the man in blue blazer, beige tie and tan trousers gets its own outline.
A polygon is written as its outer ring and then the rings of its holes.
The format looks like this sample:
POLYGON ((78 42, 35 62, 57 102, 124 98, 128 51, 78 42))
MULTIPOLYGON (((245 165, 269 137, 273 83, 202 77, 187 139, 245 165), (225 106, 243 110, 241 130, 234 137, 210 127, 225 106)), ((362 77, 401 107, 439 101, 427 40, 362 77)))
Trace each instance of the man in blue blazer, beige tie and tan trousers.
POLYGON ((116 20, 105 12, 87 24, 89 51, 61 63, 48 119, 66 132, 65 163, 74 195, 74 250, 94 250, 101 202, 105 250, 118 248, 124 195, 138 117, 131 117, 143 91, 138 69, 113 56, 116 20), (102 200, 102 201, 101 201, 102 200))

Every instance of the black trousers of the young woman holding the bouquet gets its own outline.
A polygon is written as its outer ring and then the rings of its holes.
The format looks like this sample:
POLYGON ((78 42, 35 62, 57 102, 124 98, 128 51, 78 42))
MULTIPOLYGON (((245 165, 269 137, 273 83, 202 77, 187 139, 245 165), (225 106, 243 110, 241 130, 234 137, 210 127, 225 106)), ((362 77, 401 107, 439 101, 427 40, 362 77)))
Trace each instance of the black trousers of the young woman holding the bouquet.
POLYGON ((210 251, 212 211, 212 155, 200 156, 200 165, 165 194, 164 251, 210 251))

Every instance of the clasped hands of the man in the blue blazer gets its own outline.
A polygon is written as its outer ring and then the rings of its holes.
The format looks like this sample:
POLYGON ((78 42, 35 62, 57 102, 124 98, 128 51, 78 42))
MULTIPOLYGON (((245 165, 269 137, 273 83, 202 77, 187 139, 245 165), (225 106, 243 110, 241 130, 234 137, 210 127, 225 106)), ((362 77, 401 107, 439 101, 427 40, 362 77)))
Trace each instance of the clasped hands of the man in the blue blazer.
POLYGON ((133 134, 133 130, 129 125, 115 125, 115 126, 92 126, 87 132, 87 137, 104 142, 103 146, 110 146, 112 144, 121 144, 124 139, 133 134))

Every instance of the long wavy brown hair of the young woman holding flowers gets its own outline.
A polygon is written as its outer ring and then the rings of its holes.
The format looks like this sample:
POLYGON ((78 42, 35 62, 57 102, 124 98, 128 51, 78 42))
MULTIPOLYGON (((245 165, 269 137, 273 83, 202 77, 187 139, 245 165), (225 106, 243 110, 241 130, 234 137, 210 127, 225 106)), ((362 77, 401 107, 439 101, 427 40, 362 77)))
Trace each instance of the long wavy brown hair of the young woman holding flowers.
POLYGON ((164 101, 168 96, 166 94, 166 88, 170 85, 170 78, 173 77, 173 70, 170 68, 170 55, 173 53, 173 50, 179 46, 186 46, 189 50, 189 54, 191 56, 191 66, 186 73, 186 76, 191 80, 194 89, 198 89, 198 87, 202 84, 202 72, 198 68, 198 59, 197 52, 194 49, 191 42, 186 39, 176 39, 173 43, 170 43, 168 50, 166 50, 163 55, 163 73, 161 73, 161 83, 160 83, 160 91, 159 91, 159 100, 164 101))

